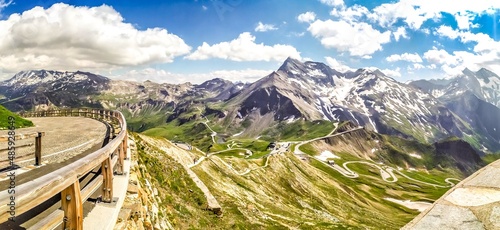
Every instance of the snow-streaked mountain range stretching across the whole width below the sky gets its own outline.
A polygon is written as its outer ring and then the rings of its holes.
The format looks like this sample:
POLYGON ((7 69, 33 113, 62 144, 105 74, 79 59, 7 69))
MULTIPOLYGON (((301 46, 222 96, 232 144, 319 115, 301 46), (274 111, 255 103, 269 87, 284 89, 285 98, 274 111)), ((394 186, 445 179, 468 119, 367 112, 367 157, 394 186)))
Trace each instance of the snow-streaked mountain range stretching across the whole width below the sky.
POLYGON ((349 120, 420 142, 457 136, 483 153, 500 150, 500 77, 486 69, 408 84, 378 69, 339 72, 292 58, 254 83, 220 78, 202 84, 138 83, 80 71, 37 70, 0 82, 0 95, 0 103, 14 111, 119 109, 134 131, 207 119, 221 136, 255 138, 281 123, 349 120))

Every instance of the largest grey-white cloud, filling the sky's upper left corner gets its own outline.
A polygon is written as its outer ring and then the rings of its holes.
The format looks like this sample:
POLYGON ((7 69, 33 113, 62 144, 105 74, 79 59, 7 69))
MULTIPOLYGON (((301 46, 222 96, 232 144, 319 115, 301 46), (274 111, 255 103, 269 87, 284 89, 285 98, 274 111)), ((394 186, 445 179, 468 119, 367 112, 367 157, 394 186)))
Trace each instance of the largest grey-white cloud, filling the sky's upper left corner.
POLYGON ((0 70, 95 70, 173 62, 191 47, 165 29, 138 30, 115 9, 63 3, 0 20, 0 70))

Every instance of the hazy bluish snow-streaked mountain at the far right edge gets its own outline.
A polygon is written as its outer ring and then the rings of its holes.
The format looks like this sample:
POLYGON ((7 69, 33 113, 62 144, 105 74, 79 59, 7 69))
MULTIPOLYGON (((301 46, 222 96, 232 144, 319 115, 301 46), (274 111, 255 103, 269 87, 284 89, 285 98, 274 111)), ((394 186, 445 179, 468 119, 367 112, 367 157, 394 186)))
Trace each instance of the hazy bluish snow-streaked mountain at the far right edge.
POLYGON ((410 85, 432 94, 468 122, 478 134, 466 136, 470 142, 476 142, 483 151, 496 149, 500 145, 500 77, 484 68, 477 72, 465 69, 462 73, 449 80, 420 80, 410 85))

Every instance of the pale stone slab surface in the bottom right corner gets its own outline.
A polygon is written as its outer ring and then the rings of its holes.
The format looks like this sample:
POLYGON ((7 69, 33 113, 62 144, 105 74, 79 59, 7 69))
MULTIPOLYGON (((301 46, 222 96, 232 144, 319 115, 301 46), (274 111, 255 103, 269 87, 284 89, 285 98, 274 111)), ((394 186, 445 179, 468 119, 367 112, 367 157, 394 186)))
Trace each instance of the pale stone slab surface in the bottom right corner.
POLYGON ((402 229, 500 229, 500 160, 481 168, 402 229))

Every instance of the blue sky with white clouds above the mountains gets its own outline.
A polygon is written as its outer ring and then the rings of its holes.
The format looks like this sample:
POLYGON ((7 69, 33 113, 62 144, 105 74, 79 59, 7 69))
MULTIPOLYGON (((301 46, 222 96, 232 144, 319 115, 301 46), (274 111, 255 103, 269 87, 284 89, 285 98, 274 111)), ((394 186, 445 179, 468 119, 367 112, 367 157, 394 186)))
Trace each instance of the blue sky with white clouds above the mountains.
POLYGON ((405 82, 500 74, 498 0, 0 0, 0 80, 23 70, 254 82, 287 57, 405 82))

